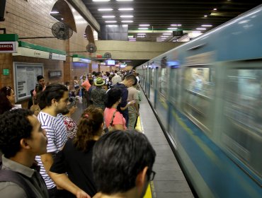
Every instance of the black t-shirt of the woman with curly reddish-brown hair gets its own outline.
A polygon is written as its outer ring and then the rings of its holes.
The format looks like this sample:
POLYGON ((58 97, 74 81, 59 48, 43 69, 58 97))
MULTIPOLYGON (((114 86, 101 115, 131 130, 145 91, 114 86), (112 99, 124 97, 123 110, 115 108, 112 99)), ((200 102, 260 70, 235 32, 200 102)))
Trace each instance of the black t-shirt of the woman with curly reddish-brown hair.
POLYGON ((69 139, 63 150, 57 153, 50 168, 53 173, 67 173, 69 179, 91 197, 97 192, 92 173, 92 153, 95 143, 96 141, 90 141, 89 148, 84 152, 76 149, 73 140, 69 139))

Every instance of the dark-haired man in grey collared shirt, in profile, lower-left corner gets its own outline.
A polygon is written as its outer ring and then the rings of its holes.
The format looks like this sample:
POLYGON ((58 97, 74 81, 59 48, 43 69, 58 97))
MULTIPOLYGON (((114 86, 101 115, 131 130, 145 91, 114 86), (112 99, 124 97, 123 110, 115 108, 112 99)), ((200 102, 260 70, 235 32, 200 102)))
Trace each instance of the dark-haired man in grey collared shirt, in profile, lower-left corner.
POLYGON ((35 165, 35 156, 47 151, 47 137, 33 112, 16 109, 0 115, 0 149, 4 153, 0 175, 10 170, 24 183, 21 187, 18 180, 11 182, 0 176, 0 197, 48 197, 45 181, 35 165), (31 194, 26 193, 28 189, 31 194))

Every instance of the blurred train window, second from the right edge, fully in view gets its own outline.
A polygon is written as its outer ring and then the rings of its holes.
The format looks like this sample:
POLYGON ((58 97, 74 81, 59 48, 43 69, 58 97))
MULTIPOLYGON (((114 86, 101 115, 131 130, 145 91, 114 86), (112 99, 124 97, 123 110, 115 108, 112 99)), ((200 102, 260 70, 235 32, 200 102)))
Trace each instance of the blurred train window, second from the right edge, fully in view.
POLYGON ((210 129, 215 70, 188 67, 184 75, 184 110, 200 127, 210 129))

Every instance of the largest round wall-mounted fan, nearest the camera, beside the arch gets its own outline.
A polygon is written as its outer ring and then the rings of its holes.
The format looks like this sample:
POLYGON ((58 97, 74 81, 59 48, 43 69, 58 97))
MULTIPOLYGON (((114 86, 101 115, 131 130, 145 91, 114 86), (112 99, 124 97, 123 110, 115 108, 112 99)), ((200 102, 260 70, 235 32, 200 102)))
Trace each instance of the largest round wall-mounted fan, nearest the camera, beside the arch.
POLYGON ((57 22, 52 25, 52 34, 57 37, 59 40, 67 40, 73 35, 73 30, 69 27, 69 25, 57 22))

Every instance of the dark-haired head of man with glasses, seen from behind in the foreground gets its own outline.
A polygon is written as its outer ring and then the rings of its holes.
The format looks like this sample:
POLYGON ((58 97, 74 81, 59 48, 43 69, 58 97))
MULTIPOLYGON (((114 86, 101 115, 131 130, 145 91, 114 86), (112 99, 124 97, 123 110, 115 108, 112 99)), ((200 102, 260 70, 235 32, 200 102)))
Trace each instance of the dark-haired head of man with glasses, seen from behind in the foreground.
POLYGON ((143 197, 154 179, 155 157, 147 137, 135 130, 101 136, 93 148, 93 177, 98 188, 94 198, 143 197))

